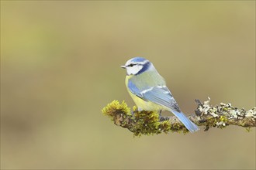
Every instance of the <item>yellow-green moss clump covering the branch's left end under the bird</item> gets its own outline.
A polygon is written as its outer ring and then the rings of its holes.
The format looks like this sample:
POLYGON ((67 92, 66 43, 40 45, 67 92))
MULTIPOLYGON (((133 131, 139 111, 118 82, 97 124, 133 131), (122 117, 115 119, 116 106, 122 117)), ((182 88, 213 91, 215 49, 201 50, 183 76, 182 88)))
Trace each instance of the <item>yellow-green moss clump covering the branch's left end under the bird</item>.
POLYGON ((171 124, 168 119, 160 121, 157 111, 139 111, 134 106, 133 114, 131 114, 130 108, 124 101, 120 104, 118 100, 113 100, 102 109, 102 114, 108 116, 116 125, 128 128, 134 136, 166 134, 169 131, 178 131, 184 134, 188 132, 185 126, 179 123, 171 124))

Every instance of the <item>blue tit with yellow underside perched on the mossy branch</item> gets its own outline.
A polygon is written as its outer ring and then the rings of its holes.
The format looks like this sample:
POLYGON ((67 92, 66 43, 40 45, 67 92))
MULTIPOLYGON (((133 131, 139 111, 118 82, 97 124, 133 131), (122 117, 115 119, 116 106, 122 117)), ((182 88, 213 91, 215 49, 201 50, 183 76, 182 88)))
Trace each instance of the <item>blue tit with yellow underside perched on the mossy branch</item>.
POLYGON ((190 132, 199 131, 199 128, 182 113, 171 91, 166 87, 164 78, 149 60, 135 57, 121 67, 126 69, 127 90, 140 110, 171 111, 190 132))

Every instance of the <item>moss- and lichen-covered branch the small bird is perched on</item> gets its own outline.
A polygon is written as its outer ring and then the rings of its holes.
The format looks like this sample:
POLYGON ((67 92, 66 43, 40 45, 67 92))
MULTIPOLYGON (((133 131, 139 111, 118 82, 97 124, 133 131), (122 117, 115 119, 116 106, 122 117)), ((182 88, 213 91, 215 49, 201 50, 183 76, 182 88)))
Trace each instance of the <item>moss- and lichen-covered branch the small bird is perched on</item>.
MULTIPOLYGON (((230 124, 247 128, 247 131, 256 127, 256 107, 246 111, 244 108, 233 107, 229 103, 211 106, 209 101, 210 99, 201 103, 199 100, 195 100, 198 105, 195 114, 189 116, 192 122, 198 126, 204 126, 204 131, 213 127, 226 128, 230 124)), ((175 116, 159 117, 157 111, 138 111, 137 107, 133 107, 131 113, 124 101, 120 104, 118 100, 113 100, 102 109, 102 114, 108 116, 117 126, 133 132, 134 136, 170 131, 183 134, 189 132, 175 116)))

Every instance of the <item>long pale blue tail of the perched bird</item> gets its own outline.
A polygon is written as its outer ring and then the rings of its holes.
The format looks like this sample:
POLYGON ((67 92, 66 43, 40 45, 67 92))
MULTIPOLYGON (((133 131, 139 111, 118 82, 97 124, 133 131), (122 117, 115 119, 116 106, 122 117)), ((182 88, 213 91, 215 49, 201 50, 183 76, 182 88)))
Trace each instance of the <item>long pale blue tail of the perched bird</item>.
POLYGON ((175 114, 176 117, 178 117, 178 120, 182 122, 182 124, 185 125, 185 128, 187 128, 190 132, 199 131, 199 128, 189 120, 188 117, 185 116, 182 112, 178 112, 175 110, 171 110, 173 114, 175 114))

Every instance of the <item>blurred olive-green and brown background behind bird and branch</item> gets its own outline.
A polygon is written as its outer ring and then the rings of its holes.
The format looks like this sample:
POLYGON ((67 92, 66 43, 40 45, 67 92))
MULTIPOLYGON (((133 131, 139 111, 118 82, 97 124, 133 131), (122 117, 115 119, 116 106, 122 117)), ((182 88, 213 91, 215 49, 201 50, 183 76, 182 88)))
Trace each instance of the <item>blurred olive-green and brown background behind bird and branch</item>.
POLYGON ((133 106, 133 56, 185 113, 207 97, 251 109, 255 2, 1 1, 1 168, 255 168, 255 128, 133 138, 104 117, 133 106))

